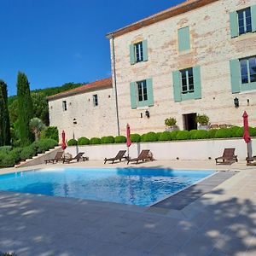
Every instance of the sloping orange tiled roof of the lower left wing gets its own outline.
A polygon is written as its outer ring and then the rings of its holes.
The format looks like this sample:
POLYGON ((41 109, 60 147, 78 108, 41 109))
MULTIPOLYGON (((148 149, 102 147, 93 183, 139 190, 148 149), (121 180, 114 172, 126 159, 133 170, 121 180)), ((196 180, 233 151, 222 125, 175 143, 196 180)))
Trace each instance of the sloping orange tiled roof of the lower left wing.
POLYGON ((52 100, 60 99, 60 98, 67 97, 67 96, 81 94, 81 93, 84 93, 87 91, 103 90, 103 89, 108 89, 108 88, 112 88, 112 79, 111 78, 97 80, 90 84, 84 84, 84 85, 74 88, 72 90, 66 90, 61 93, 55 94, 54 96, 49 96, 49 97, 47 97, 47 99, 49 101, 52 101, 52 100))

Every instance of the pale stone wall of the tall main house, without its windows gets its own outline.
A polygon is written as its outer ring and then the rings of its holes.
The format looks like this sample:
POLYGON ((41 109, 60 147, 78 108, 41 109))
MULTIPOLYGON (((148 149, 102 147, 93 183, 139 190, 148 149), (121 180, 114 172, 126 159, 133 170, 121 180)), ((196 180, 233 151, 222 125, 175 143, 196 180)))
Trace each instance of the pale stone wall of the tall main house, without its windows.
POLYGON ((244 110, 250 125, 256 126, 256 90, 234 94, 230 79, 230 60, 256 55, 256 33, 231 38, 230 13, 255 4, 255 0, 190 0, 172 8, 170 18, 155 22, 159 16, 154 15, 108 34, 112 66, 115 61, 121 133, 125 134, 127 122, 133 133, 164 131, 168 117, 176 118, 183 130, 188 113, 205 113, 213 125, 242 125, 244 110), (189 3, 199 7, 178 11, 189 3), (179 52, 177 31, 184 26, 189 26, 190 49, 179 52), (148 61, 131 65, 129 45, 143 40, 148 42, 148 61), (201 67, 201 99, 175 102, 172 73, 195 66, 201 67), (130 83, 143 79, 153 81, 154 106, 131 109, 130 83), (239 108, 234 107, 236 97, 239 108))

